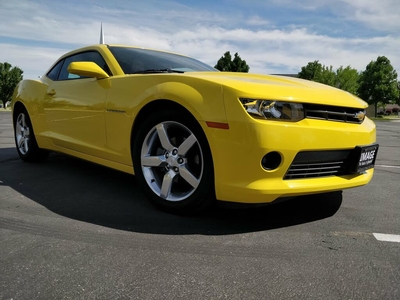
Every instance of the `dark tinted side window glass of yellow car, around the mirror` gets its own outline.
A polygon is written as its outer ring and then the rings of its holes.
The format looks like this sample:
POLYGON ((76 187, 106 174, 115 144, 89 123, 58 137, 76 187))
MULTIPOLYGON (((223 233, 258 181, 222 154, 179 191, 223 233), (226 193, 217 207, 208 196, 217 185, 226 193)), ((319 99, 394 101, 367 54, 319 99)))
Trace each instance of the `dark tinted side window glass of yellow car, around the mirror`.
POLYGON ((100 68, 102 68, 108 75, 112 75, 110 72, 110 69, 107 66, 107 63, 103 59, 103 57, 100 55, 100 53, 96 51, 88 51, 88 52, 83 52, 83 53, 78 53, 75 55, 71 55, 54 66, 50 70, 49 73, 47 73, 47 77, 49 77, 52 80, 69 80, 69 79, 79 79, 79 78, 87 78, 87 77, 82 77, 76 74, 71 74, 68 72, 68 66, 71 62, 78 62, 78 61, 90 61, 96 63, 100 68))

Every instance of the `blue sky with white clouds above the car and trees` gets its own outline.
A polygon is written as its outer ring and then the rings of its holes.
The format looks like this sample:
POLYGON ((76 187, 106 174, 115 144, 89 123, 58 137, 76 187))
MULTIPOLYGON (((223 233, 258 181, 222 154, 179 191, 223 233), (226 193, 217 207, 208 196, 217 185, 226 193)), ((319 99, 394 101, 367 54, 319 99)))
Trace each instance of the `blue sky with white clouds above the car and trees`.
POLYGON ((38 78, 61 55, 99 43, 176 52, 211 66, 238 53, 250 73, 297 74, 318 60, 400 72, 399 0, 0 0, 0 62, 38 78))

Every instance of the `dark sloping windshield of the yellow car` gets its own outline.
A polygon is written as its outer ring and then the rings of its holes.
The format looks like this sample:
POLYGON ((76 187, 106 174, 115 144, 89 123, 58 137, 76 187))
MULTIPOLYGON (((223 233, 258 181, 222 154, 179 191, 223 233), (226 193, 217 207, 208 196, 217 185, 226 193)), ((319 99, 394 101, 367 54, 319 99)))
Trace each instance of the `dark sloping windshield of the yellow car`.
POLYGON ((125 74, 161 72, 216 72, 213 67, 196 59, 154 50, 109 47, 125 74))

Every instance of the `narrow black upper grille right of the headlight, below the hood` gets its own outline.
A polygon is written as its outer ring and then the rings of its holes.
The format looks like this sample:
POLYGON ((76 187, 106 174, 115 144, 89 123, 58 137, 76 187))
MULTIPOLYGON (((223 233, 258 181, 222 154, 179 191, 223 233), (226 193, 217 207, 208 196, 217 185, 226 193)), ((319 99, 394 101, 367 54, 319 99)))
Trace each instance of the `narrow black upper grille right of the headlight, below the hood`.
POLYGON ((357 118, 359 113, 365 114, 364 110, 360 108, 304 104, 305 117, 312 119, 360 124, 363 120, 357 118))

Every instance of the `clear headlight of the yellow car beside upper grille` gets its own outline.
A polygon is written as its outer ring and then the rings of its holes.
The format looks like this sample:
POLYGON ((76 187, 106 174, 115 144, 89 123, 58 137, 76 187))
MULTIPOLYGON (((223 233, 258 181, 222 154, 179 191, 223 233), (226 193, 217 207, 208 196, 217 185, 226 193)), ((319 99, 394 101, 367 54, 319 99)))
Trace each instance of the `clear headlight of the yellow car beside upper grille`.
POLYGON ((245 110, 253 117, 268 120, 300 121, 304 119, 303 104, 274 100, 240 98, 245 110))

